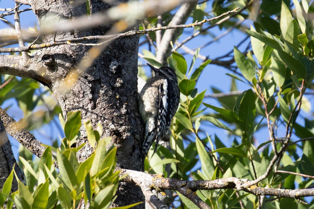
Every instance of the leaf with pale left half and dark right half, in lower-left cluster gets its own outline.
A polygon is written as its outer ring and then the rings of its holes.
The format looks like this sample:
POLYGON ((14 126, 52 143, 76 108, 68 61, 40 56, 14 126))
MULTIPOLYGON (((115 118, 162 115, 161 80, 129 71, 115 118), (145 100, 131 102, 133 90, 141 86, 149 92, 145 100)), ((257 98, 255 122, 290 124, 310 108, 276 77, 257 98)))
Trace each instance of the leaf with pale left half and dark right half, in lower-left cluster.
POLYGON ((57 163, 59 165, 62 182, 72 191, 77 185, 76 175, 70 161, 59 150, 57 150, 57 163))

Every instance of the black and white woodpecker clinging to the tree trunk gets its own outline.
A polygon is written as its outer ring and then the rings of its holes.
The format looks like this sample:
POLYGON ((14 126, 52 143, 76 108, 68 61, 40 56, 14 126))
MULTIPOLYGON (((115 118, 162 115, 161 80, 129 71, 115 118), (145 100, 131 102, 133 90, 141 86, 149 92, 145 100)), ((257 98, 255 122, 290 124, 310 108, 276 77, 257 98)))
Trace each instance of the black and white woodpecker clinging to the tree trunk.
MULTIPOLYGON (((147 64, 149 65, 149 64, 147 64)), ((145 140, 140 159, 143 161, 151 145, 167 133, 180 102, 180 90, 176 73, 170 67, 154 68, 155 76, 143 86, 139 95, 139 112, 145 124, 145 140)))

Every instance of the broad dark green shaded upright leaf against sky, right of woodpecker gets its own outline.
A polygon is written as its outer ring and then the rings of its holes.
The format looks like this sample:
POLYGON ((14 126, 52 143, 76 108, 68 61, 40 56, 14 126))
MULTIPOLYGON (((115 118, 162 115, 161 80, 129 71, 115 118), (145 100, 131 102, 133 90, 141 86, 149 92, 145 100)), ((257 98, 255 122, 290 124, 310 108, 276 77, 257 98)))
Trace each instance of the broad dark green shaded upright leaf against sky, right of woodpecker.
POLYGON ((239 125, 243 131, 247 131, 255 118, 255 94, 252 89, 246 91, 239 107, 239 125))

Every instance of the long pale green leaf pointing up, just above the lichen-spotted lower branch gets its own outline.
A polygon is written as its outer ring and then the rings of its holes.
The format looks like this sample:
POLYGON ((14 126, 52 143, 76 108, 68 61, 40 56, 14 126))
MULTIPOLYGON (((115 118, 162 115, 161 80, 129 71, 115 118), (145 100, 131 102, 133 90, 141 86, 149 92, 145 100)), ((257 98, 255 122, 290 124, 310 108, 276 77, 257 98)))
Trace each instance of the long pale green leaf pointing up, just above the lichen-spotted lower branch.
POLYGON ((202 142, 196 138, 196 149, 198 151, 199 159, 201 161, 202 170, 207 180, 211 180, 214 174, 214 164, 209 158, 202 142))

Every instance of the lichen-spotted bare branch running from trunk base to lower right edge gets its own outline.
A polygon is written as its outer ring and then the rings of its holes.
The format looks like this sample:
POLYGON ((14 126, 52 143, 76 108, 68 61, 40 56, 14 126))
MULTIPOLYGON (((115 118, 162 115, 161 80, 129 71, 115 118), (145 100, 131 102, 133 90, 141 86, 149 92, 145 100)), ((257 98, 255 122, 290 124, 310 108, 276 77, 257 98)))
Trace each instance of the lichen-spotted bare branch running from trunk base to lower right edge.
POLYGON ((216 180, 179 180, 164 178, 161 174, 147 174, 140 171, 121 169, 120 175, 126 175, 122 179, 125 182, 131 182, 146 188, 146 190, 163 191, 165 189, 175 190, 189 198, 194 204, 200 208, 209 208, 209 206, 196 199, 193 195, 196 190, 218 190, 218 189, 240 189, 257 196, 277 196, 299 199, 305 196, 314 196, 314 189, 278 189, 267 188, 251 185, 248 188, 241 188, 244 184, 250 184, 252 181, 246 179, 238 179, 236 177, 221 178, 216 180), (191 194, 192 193, 192 194, 191 194), (205 204, 205 205, 203 205, 205 204))

